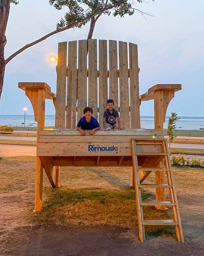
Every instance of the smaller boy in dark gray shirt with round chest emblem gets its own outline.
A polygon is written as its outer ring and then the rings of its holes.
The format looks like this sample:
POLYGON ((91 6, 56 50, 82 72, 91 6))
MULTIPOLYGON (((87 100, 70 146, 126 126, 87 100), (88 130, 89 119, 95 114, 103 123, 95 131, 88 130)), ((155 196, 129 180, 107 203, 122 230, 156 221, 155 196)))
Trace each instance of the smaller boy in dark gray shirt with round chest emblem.
POLYGON ((114 109, 114 100, 107 100, 107 109, 103 114, 104 129, 121 129, 118 111, 114 109))

